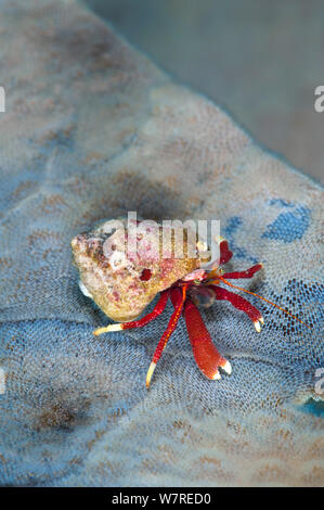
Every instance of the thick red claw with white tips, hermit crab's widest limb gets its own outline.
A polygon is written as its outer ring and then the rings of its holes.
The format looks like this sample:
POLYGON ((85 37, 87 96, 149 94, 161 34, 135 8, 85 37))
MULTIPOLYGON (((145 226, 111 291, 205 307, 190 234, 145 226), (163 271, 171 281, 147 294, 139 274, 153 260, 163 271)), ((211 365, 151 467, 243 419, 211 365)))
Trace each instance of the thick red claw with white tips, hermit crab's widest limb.
POLYGON ((230 374, 232 371, 230 361, 217 350, 198 308, 189 299, 184 304, 183 316, 199 370, 212 380, 220 379, 219 367, 230 374))

